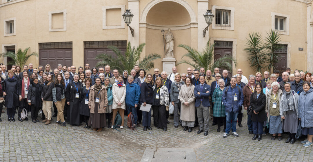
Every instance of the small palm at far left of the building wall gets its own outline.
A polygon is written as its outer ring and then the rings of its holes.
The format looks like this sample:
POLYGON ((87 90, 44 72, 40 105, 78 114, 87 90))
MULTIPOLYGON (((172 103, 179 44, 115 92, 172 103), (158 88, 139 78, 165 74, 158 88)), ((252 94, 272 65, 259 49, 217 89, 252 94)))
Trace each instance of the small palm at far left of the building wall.
POLYGON ((22 49, 19 48, 17 53, 9 51, 6 53, 2 53, 0 56, 12 58, 12 61, 9 61, 8 65, 15 64, 17 66, 23 67, 26 64, 26 62, 28 61, 29 57, 31 57, 31 56, 37 56, 38 57, 37 52, 32 52, 32 53, 28 54, 29 48, 30 47, 25 48, 24 51, 22 51, 22 49))

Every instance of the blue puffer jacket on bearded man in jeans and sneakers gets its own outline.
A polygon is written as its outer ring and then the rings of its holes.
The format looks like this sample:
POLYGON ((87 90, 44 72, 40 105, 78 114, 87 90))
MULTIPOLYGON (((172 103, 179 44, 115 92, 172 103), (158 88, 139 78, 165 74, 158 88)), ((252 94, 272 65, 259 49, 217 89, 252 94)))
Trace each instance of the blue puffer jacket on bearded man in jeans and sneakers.
POLYGON ((244 103, 244 93, 242 92, 242 88, 240 89, 240 96, 239 96, 239 91, 237 86, 235 86, 234 88, 232 88, 231 86, 229 86, 229 89, 227 91, 227 95, 225 94, 226 89, 228 87, 225 87, 225 91, 223 91, 223 95, 222 95, 222 101, 223 101, 223 105, 225 106, 225 111, 226 112, 239 112, 239 107, 242 106, 242 104, 244 103), (234 101, 234 96, 237 96, 237 101, 234 101))

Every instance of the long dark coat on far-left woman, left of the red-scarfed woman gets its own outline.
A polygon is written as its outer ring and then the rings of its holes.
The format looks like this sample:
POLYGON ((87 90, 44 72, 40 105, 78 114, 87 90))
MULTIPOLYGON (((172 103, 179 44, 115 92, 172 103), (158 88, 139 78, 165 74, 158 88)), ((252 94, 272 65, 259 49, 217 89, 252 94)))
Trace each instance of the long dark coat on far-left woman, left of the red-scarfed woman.
POLYGON ((4 86, 3 90, 5 93, 7 93, 5 98, 5 107, 7 108, 15 108, 18 106, 19 99, 18 99, 18 80, 16 78, 10 80, 10 79, 5 79, 4 80, 4 86))

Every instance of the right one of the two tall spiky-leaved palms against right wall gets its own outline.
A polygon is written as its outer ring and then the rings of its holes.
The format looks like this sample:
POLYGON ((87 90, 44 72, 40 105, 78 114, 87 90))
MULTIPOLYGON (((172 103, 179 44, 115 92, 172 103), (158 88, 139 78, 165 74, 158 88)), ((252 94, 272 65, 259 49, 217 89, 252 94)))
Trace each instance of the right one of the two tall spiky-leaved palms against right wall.
POLYGON ((282 46, 279 44, 281 39, 278 31, 271 30, 269 33, 266 32, 266 34, 264 48, 266 54, 265 61, 267 62, 267 65, 265 68, 271 72, 275 70, 274 65, 277 62, 278 57, 275 51, 281 49, 282 46))

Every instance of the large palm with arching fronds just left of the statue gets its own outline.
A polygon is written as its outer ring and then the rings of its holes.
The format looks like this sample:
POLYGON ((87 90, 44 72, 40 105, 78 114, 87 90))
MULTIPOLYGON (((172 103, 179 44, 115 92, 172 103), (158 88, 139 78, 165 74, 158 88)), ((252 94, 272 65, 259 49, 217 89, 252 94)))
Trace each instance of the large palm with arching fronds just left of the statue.
POLYGON ((161 56, 159 54, 152 53, 140 59, 141 52, 145 45, 145 43, 141 43, 138 47, 131 48, 131 42, 128 42, 125 55, 121 54, 119 48, 115 46, 108 46, 114 54, 102 53, 97 55, 95 59, 99 59, 101 61, 97 62, 96 66, 99 67, 109 65, 112 69, 117 69, 119 73, 122 74, 124 70, 130 72, 131 69, 138 64, 141 69, 149 71, 154 67, 153 60, 159 59, 161 56))

